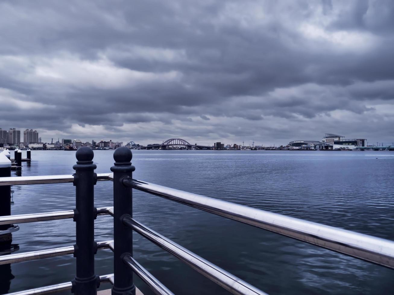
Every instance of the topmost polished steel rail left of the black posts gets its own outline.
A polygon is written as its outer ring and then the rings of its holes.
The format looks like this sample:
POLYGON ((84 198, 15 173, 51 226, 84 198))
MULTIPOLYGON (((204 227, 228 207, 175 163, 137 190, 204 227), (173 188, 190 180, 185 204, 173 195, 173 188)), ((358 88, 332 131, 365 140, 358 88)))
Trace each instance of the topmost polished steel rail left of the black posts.
MULTIPOLYGON (((98 181, 110 180, 111 173, 97 173, 98 181)), ((65 175, 42 175, 42 176, 18 176, 0 177, 0 186, 5 185, 24 185, 24 184, 48 184, 48 183, 72 183, 74 176, 65 175)))

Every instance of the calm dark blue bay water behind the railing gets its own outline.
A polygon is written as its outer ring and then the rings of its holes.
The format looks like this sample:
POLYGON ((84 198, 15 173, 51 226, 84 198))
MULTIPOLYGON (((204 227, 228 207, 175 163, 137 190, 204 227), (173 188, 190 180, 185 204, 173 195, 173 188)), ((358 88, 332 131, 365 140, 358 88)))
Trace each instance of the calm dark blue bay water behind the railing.
MULTIPOLYGON (((97 173, 113 151, 94 151, 97 173)), ((26 157, 23 151, 23 157, 26 157)), ((72 174, 75 152, 32 151, 22 175, 72 174)), ((242 205, 394 240, 394 152, 133 151, 134 178, 242 205)), ((12 172, 15 175, 15 172, 12 172)), ((14 186, 12 214, 75 207, 68 184, 14 186)), ((112 206, 112 182, 95 186, 95 206, 112 206)), ((134 191, 134 218, 269 294, 392 294, 394 272, 367 262, 134 191)), ((96 241, 112 240, 112 218, 95 221, 96 241)), ((75 243, 72 220, 25 223, 18 253, 75 243)), ((134 257, 175 294, 228 294, 134 233, 134 257)), ((66 282, 72 255, 11 265, 12 291, 66 282)), ((112 273, 99 250, 96 274, 112 273)), ((137 286, 151 291, 138 278, 137 286)), ((0 284, 7 284, 0 278, 0 284)), ((101 289, 109 288, 103 284, 101 289)))

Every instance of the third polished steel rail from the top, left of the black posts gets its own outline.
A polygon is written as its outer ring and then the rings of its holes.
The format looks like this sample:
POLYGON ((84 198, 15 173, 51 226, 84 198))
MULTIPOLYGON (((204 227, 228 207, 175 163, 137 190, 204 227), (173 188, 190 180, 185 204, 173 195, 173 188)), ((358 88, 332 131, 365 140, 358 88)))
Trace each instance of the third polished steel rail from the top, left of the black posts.
MULTIPOLYGON (((97 242, 97 249, 109 249, 110 243, 112 243, 112 242, 113 241, 97 242)), ((37 260, 37 259, 41 259, 41 258, 56 257, 56 256, 62 256, 62 255, 67 255, 67 254, 72 254, 72 253, 74 253, 74 246, 73 245, 66 246, 66 247, 17 253, 17 254, 8 254, 8 255, 0 256, 0 265, 15 263, 15 262, 29 261, 29 260, 37 260)))

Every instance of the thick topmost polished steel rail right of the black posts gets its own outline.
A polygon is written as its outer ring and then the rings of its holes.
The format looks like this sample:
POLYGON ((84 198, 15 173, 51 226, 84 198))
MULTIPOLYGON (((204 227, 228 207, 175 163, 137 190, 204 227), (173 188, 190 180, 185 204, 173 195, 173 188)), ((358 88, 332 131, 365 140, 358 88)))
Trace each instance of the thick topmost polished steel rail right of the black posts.
POLYGON ((135 179, 125 185, 171 201, 394 269, 394 242, 135 179))

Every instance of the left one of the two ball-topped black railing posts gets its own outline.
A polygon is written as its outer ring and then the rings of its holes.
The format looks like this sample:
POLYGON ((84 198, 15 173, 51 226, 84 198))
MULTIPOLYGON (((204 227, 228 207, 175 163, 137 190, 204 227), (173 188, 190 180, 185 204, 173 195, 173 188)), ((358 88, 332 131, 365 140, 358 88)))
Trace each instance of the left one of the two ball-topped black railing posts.
POLYGON ((94 240, 94 220, 97 209, 94 207, 94 185, 97 182, 97 168, 93 164, 93 151, 90 147, 80 147, 75 157, 74 168, 75 203, 74 221, 76 221, 76 276, 72 280, 72 293, 77 295, 97 294, 100 285, 99 276, 95 275, 94 256, 97 243, 94 240))

